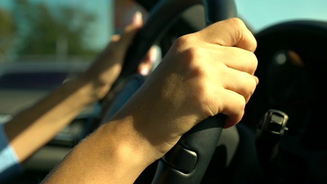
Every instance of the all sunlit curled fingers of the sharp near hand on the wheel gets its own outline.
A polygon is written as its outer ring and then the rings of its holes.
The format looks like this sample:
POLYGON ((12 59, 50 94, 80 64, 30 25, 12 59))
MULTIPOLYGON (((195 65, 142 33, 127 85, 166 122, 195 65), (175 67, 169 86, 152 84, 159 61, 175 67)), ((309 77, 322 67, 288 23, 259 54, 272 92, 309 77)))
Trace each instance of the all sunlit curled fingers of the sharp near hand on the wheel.
MULTIPOLYGON (((244 108, 259 83, 254 72, 258 65, 253 52, 256 49, 256 40, 246 28, 243 21, 231 18, 217 22, 197 33, 195 36, 206 43, 218 44, 224 47, 215 49, 227 68, 221 73, 221 90, 217 100, 220 103, 220 112, 227 115, 224 128, 236 125, 244 115, 244 108)), ((217 46, 218 46, 217 45, 217 46)))

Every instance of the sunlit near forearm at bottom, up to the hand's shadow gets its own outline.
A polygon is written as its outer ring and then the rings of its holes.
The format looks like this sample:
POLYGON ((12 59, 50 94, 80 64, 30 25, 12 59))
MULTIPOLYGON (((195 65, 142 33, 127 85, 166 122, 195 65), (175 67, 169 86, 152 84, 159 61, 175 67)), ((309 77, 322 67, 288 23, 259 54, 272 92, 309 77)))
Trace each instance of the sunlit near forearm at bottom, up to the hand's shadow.
POLYGON ((132 119, 111 121, 80 142, 44 183, 133 183, 154 161, 132 119))

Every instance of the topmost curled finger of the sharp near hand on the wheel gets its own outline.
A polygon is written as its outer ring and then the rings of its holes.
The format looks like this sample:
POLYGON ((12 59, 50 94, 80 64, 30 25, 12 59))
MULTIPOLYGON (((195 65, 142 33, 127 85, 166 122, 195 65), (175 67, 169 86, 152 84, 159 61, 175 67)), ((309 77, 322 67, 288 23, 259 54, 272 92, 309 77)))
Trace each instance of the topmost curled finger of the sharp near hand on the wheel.
POLYGON ((202 41, 254 52, 256 40, 239 18, 216 22, 195 34, 202 41))

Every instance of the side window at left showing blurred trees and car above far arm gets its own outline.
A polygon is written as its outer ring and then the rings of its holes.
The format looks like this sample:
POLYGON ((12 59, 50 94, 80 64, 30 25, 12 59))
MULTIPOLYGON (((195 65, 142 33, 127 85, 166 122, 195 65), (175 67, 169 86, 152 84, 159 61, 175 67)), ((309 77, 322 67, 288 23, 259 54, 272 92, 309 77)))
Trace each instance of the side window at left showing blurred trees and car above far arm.
MULTIPOLYGON (((113 0, 0 0, 0 123, 88 68, 113 34, 112 5, 113 0)), ((96 105, 78 118, 96 116, 96 105)))

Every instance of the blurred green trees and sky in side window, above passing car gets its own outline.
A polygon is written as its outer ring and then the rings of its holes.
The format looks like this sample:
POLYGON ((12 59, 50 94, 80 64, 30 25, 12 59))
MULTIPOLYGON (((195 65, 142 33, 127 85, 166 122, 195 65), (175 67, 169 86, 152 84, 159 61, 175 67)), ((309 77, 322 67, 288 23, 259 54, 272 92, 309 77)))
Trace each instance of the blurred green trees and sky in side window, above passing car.
POLYGON ((113 33, 112 1, 0 1, 0 62, 91 61, 113 33))

